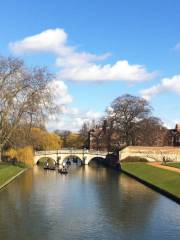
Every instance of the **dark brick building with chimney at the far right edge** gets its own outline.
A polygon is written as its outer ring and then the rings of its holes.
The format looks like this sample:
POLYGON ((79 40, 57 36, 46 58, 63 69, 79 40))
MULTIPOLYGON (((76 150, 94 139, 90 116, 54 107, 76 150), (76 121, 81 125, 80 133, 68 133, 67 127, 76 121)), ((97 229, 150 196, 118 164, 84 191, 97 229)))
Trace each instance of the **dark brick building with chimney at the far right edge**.
POLYGON ((175 129, 169 130, 168 143, 169 146, 180 146, 180 124, 176 124, 175 129))

